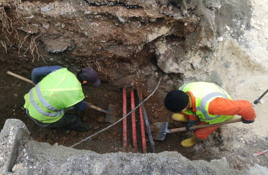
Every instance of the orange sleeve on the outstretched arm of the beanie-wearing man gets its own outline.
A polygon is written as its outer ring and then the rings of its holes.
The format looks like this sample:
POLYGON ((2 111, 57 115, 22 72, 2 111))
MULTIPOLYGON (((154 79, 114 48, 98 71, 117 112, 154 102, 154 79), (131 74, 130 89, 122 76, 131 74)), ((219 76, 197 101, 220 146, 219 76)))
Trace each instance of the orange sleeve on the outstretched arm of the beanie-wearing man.
POLYGON ((256 112, 249 101, 229 100, 226 98, 215 98, 209 103, 209 114, 211 115, 240 115, 245 120, 256 118, 256 112))

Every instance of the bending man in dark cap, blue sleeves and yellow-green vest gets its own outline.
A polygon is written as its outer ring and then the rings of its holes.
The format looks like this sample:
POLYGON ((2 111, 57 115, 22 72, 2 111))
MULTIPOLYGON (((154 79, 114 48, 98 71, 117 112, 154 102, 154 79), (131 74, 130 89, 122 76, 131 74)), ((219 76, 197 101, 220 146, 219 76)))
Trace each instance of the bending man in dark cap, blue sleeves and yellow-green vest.
POLYGON ((91 103, 84 102, 82 85, 100 85, 96 71, 85 67, 76 75, 61 66, 38 67, 32 71, 36 84, 24 96, 27 115, 42 128, 66 127, 75 131, 88 131, 90 123, 83 123, 80 117, 66 111, 75 108, 83 111, 91 103), (41 81, 40 78, 44 77, 41 81))

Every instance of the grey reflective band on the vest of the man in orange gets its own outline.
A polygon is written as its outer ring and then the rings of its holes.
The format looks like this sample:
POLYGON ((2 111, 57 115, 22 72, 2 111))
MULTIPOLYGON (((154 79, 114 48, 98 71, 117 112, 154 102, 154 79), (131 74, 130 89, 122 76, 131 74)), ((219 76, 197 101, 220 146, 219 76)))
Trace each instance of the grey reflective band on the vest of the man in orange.
MULTIPOLYGON (((215 84, 216 85, 216 84, 215 84)), ((207 111, 205 110, 205 106, 207 104, 207 102, 213 98, 213 97, 217 97, 217 96, 223 96, 224 98, 228 99, 227 95, 226 94, 222 94, 220 92, 212 92, 210 94, 207 94, 205 97, 203 97, 201 99, 201 106, 200 107, 196 107, 196 109, 198 111, 201 111, 203 113, 203 115, 205 116, 205 118, 207 120, 213 120, 215 118, 218 118, 220 117, 221 115, 217 115, 216 117, 212 118, 212 117, 209 117, 209 115, 207 114, 207 111)))

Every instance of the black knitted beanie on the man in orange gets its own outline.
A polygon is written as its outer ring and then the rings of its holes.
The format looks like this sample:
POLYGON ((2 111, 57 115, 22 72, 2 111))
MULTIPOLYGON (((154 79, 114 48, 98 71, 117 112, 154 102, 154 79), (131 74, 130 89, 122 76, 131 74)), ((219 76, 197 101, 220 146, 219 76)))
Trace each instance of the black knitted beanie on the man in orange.
POLYGON ((171 112, 182 111, 189 103, 189 96, 181 90, 172 90, 164 100, 166 108, 171 112))

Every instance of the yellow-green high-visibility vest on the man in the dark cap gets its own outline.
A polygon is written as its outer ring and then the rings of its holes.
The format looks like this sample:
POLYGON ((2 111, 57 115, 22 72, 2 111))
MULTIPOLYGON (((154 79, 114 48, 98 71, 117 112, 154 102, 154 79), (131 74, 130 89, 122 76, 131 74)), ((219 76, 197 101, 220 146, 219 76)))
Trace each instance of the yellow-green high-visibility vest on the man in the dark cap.
POLYGON ((43 78, 24 99, 24 108, 28 109, 32 118, 42 123, 53 123, 83 100, 84 94, 74 74, 62 68, 43 78))

